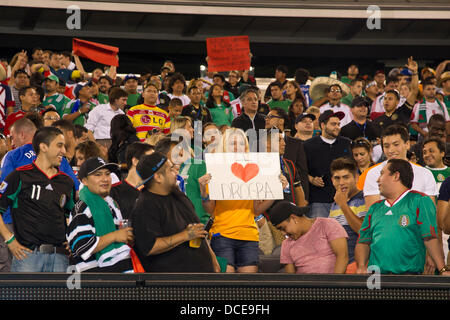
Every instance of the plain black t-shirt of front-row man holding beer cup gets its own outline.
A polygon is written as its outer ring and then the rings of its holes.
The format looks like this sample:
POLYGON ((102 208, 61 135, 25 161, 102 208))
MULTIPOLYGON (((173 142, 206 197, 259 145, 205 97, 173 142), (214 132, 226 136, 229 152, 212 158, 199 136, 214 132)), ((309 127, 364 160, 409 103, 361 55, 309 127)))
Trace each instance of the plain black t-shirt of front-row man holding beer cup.
POLYGON ((199 248, 191 248, 186 241, 164 253, 148 255, 157 238, 180 233, 190 223, 200 223, 193 204, 181 191, 160 196, 142 190, 131 220, 135 251, 146 272, 214 272, 206 240, 199 248))

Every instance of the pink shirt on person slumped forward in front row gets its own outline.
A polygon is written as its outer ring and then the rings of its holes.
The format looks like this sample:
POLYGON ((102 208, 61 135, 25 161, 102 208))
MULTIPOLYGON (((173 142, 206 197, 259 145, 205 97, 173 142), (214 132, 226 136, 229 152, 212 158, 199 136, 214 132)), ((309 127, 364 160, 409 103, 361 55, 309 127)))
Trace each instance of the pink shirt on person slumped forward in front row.
POLYGON ((336 256, 329 242, 347 237, 347 232, 335 219, 316 218, 306 234, 297 240, 283 241, 280 262, 294 264, 297 273, 334 273, 336 256))

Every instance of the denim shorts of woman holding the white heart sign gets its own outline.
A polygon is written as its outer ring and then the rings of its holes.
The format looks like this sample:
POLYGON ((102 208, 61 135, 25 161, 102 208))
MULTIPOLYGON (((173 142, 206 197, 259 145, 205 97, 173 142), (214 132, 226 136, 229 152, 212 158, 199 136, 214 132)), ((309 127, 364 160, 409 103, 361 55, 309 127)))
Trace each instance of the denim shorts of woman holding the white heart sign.
POLYGON ((259 263, 258 241, 235 240, 220 235, 211 238, 211 248, 218 257, 227 259, 235 268, 257 266, 259 263))

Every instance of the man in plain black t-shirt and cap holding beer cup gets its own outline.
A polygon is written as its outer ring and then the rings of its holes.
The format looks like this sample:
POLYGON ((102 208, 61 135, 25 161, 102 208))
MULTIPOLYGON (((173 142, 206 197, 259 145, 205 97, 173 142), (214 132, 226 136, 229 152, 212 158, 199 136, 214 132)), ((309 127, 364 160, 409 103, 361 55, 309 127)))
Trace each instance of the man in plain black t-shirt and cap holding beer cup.
POLYGON ((192 202, 178 189, 178 166, 155 152, 141 158, 136 171, 144 188, 131 219, 135 226, 135 250, 145 271, 219 271, 205 239, 208 232, 192 202))

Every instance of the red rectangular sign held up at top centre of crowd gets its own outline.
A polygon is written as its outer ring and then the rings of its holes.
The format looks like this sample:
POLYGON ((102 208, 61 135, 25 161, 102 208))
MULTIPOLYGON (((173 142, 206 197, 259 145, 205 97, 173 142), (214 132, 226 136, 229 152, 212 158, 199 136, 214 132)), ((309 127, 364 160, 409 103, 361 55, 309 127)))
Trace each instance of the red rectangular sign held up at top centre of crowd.
POLYGON ((221 72, 250 69, 248 36, 207 38, 208 71, 221 72))

